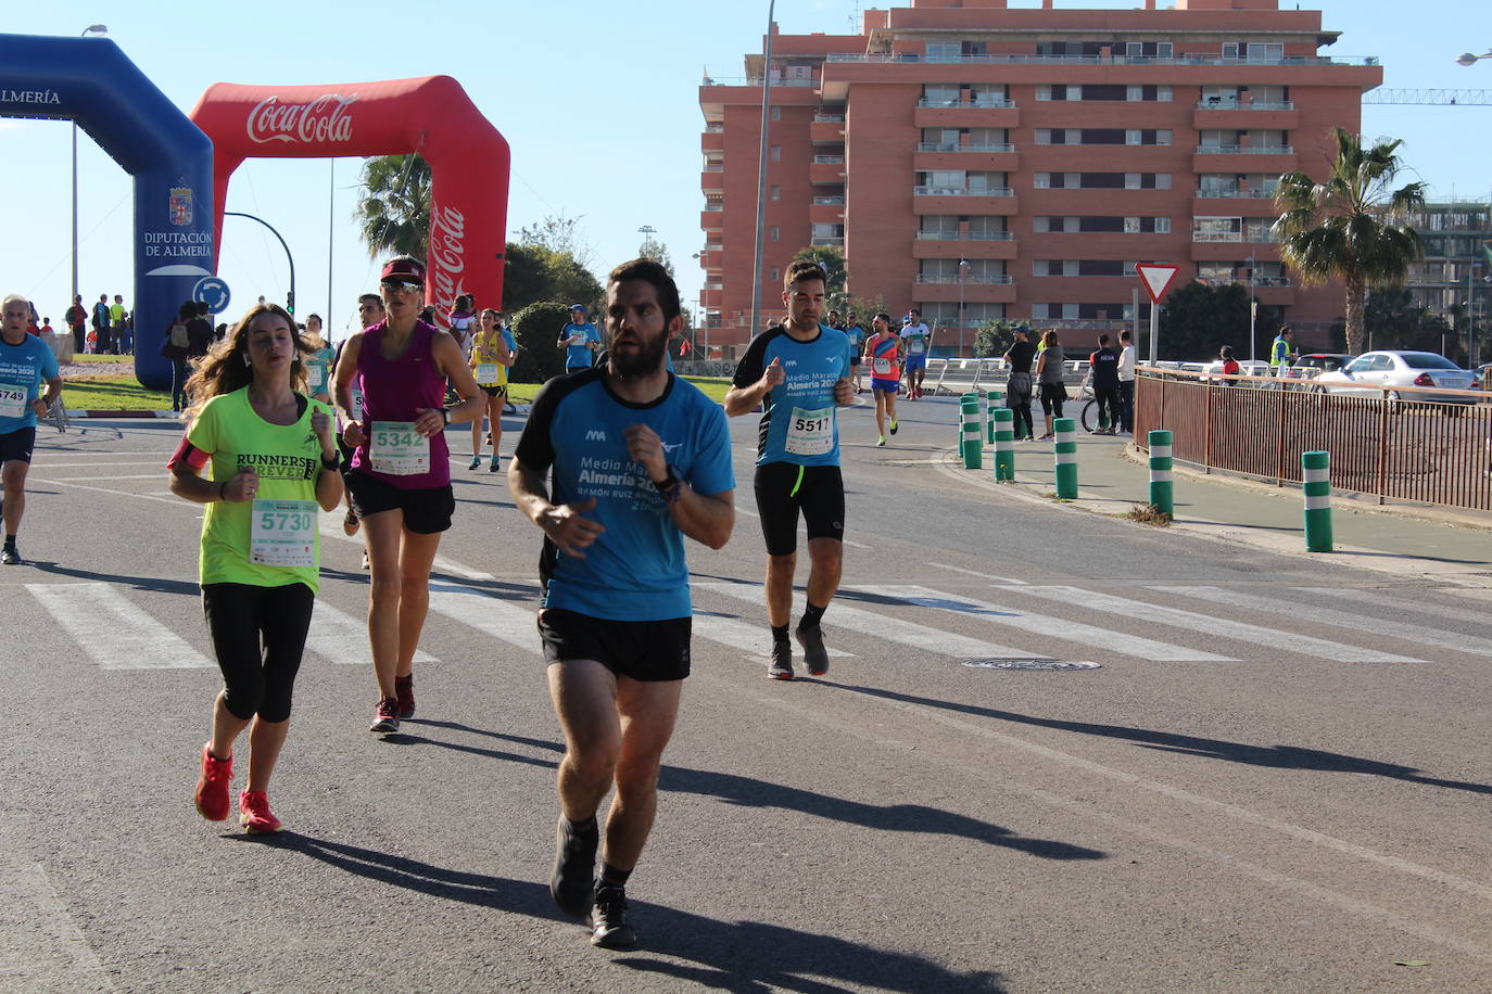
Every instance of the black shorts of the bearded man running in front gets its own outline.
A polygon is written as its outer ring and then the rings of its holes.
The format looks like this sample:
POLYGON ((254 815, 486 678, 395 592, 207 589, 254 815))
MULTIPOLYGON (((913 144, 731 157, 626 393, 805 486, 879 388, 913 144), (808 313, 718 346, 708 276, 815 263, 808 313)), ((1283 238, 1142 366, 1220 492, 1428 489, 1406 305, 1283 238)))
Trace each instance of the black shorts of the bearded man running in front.
POLYGON ((689 675, 692 618, 613 621, 564 608, 539 612, 545 662, 592 659, 618 677, 640 683, 683 680, 689 675))

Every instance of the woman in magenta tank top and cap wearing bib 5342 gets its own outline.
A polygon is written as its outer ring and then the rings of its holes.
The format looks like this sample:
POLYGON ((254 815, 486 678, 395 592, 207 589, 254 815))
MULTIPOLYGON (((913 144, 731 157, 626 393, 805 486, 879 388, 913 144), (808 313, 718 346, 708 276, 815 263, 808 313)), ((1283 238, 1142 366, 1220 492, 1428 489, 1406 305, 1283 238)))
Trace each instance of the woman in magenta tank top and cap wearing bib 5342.
POLYGON ((377 677, 373 732, 415 714, 415 650, 430 608, 430 568, 455 496, 446 425, 482 416, 483 395, 461 346, 418 319, 425 267, 400 256, 379 282, 388 319, 348 338, 336 401, 352 447, 348 490, 369 550, 369 642, 377 677), (461 402, 443 407, 446 380, 461 402), (361 395, 361 411, 354 405, 361 395))

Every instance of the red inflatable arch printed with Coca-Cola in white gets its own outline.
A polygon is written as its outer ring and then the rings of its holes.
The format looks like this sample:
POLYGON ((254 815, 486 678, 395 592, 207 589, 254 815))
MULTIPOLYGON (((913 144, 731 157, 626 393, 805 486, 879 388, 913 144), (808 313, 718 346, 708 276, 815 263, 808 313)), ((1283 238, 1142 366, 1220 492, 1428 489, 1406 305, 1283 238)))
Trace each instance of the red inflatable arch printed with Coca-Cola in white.
POLYGON ((222 244, 228 177, 246 158, 419 152, 430 162, 433 186, 425 301, 442 313, 458 294, 474 294, 482 306, 501 306, 507 140, 457 80, 425 76, 334 86, 215 83, 197 101, 191 119, 213 146, 213 246, 222 244))

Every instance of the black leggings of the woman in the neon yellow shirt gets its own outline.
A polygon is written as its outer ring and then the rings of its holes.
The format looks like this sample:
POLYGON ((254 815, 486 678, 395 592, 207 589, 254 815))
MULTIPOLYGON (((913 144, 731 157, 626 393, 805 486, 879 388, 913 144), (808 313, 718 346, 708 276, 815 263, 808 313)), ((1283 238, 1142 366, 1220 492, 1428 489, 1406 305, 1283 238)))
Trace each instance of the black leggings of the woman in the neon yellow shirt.
POLYGON ((201 608, 233 717, 240 721, 255 714, 264 721, 289 718, 289 699, 315 604, 316 595, 303 583, 282 587, 203 584, 201 608))

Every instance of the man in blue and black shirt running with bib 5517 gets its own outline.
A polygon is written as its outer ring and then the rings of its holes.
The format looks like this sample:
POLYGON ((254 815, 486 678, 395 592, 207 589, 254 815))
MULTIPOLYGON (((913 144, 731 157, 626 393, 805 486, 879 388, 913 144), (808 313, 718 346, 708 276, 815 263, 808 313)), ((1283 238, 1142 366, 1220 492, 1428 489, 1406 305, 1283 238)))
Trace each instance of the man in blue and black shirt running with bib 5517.
POLYGON ((797 639, 809 672, 828 672, 819 620, 839 590, 844 559, 844 481, 839 465, 839 407, 855 402, 849 338, 819 325, 827 283, 818 262, 794 262, 782 303, 788 323, 752 338, 725 395, 731 417, 762 407, 756 446, 756 510, 767 539, 767 675, 792 680, 792 575, 798 563, 798 514, 809 532, 807 607, 797 639))

